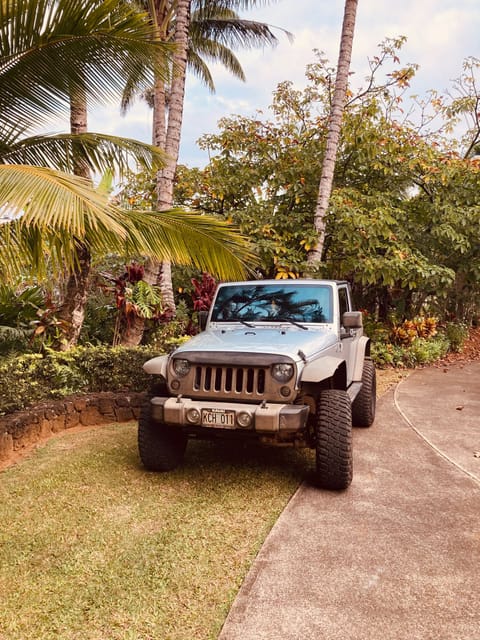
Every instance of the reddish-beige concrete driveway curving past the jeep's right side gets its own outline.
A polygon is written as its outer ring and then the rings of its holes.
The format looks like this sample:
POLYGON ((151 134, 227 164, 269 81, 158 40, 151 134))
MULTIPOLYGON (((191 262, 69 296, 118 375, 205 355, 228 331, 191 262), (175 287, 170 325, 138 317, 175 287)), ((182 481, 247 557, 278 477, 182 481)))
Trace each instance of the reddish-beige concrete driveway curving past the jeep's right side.
POLYGON ((348 491, 300 486, 219 640, 480 640, 480 362, 415 371, 354 455, 348 491))

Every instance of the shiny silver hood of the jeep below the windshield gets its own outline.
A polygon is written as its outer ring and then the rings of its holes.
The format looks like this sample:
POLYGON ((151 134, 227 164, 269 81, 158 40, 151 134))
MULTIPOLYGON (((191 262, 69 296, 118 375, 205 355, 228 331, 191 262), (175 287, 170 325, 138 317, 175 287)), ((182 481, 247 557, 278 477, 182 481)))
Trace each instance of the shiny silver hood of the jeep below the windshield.
POLYGON ((207 353, 231 353, 232 364, 241 354, 279 354, 293 360, 309 359, 314 354, 336 344, 335 334, 326 329, 300 329, 297 327, 208 330, 195 336, 175 351, 175 355, 201 351, 207 353), (299 351, 302 356, 299 356, 299 351))

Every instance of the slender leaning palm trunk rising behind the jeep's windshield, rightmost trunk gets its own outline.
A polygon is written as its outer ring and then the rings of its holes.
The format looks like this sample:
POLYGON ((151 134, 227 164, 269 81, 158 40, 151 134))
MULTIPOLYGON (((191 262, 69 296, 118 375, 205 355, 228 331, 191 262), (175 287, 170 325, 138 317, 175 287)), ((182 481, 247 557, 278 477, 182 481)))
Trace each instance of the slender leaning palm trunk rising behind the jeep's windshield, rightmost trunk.
POLYGON ((317 206, 314 215, 314 227, 317 232, 317 243, 308 253, 308 265, 313 267, 322 261, 325 242, 325 226, 328 203, 332 192, 333 175, 337 157, 338 142, 342 126, 343 110, 348 86, 350 60, 352 58, 353 35, 358 0, 345 0, 340 53, 338 56, 337 76, 333 92, 332 107, 328 124, 327 145, 322 165, 322 174, 318 189, 317 206))

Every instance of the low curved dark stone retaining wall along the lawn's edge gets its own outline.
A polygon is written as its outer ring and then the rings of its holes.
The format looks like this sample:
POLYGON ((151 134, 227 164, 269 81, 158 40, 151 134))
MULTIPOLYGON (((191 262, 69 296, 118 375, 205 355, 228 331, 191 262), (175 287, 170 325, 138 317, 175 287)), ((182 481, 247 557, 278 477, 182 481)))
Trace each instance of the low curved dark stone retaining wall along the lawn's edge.
POLYGON ((145 393, 93 393, 0 417, 0 462, 64 429, 136 420, 144 399, 145 393))

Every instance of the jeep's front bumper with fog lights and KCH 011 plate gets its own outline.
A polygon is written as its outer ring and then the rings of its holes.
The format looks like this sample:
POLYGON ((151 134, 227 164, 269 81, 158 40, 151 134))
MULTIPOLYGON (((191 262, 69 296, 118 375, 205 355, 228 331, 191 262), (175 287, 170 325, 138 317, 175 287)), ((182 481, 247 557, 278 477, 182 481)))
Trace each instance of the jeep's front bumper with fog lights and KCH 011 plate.
POLYGON ((263 402, 255 405, 192 400, 180 396, 177 398, 154 397, 151 399, 151 405, 152 418, 165 424, 254 431, 264 434, 300 431, 307 424, 309 412, 308 406, 302 404, 263 402))

